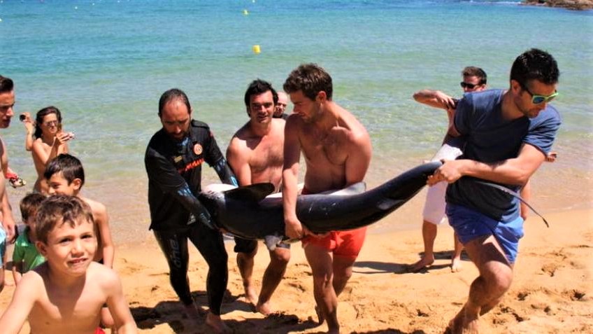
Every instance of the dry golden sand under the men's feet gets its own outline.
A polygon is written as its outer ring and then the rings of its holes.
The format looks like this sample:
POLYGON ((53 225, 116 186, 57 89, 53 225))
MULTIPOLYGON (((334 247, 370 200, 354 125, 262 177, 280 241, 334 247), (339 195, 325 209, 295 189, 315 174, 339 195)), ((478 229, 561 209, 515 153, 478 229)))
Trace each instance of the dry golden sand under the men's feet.
MULTIPOLYGON (((483 316, 482 333, 593 333, 593 210, 547 214, 546 218, 550 228, 536 216, 526 222, 513 286, 503 302, 483 316)), ((338 318, 343 333, 443 333, 477 275, 467 258, 461 272, 450 272, 451 237, 448 225, 441 225, 436 262, 413 274, 406 271, 406 264, 413 263, 422 249, 420 231, 377 235, 371 230, 355 273, 340 296, 338 318)), ((310 268, 300 244, 292 246, 285 279, 273 295, 279 313, 268 317, 252 312, 245 302, 232 244, 227 246, 229 286, 222 317, 235 333, 327 330, 316 323, 310 268)), ((192 291, 198 304, 206 305, 206 264, 190 249, 192 291)), ((259 251, 257 284, 267 263, 267 252, 259 251)), ((208 333, 208 328, 195 325, 181 311, 155 242, 118 246, 115 267, 140 333, 208 333)), ((0 294, 0 309, 6 307, 13 290, 14 286, 7 286, 0 294)), ((29 333, 29 328, 25 325, 21 333, 29 333)))

